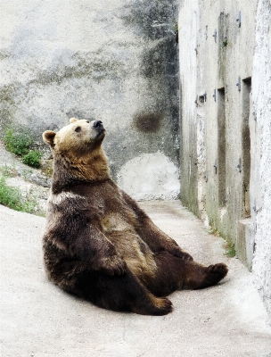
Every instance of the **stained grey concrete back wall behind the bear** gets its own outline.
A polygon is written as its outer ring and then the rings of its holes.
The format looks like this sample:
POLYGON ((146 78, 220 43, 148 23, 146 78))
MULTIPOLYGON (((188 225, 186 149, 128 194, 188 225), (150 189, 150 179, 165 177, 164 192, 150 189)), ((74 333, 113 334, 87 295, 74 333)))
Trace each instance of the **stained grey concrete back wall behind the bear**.
POLYGON ((159 198, 162 192, 176 198, 177 5, 177 0, 2 0, 2 135, 6 127, 22 127, 40 138, 73 116, 103 120, 113 178, 132 195, 159 198), (134 160, 144 161, 145 154, 152 185, 138 193, 131 184, 141 189, 144 170, 134 160), (160 161, 169 167, 172 188, 160 161))

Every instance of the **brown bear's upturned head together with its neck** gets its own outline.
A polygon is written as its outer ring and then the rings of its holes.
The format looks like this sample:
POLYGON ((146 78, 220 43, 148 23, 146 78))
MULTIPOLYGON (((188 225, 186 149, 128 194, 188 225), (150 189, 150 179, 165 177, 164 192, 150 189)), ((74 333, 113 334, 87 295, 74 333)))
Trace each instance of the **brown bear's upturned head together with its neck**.
POLYGON ((104 136, 101 120, 71 118, 70 124, 58 132, 46 130, 43 139, 51 146, 54 158, 53 185, 108 179, 107 158, 101 146, 104 136))

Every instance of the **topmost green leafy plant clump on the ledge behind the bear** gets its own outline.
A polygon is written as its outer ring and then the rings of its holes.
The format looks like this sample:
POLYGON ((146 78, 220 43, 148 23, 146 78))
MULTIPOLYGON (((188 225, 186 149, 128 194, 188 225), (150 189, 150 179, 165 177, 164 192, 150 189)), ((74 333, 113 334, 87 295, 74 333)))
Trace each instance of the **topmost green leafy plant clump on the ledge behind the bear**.
POLYGON ((33 137, 26 131, 14 132, 13 129, 7 129, 4 135, 4 143, 11 153, 23 156, 29 153, 33 137))

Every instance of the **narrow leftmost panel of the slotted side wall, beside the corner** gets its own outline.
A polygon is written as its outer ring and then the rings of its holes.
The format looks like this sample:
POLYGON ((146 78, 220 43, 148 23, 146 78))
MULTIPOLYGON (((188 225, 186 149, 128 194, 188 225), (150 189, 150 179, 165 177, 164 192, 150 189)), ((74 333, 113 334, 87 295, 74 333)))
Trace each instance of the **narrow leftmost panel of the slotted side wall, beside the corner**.
MULTIPOLYGON (((180 169, 181 200, 193 212, 198 213, 197 194, 197 146, 193 145, 197 137, 196 99, 197 83, 197 31, 198 4, 195 1, 184 0, 180 4, 178 19, 179 62, 180 62, 180 169)), ((202 121, 203 124, 203 121, 202 121)), ((203 125, 204 127, 204 125, 203 125)))

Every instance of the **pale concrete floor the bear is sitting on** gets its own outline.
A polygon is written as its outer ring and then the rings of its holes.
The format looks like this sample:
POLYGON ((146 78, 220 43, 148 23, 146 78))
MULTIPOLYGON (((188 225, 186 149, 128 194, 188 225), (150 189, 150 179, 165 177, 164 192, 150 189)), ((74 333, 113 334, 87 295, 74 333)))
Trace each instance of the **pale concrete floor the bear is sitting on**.
POLYGON ((271 356, 271 328, 242 263, 225 255, 177 201, 141 203, 194 260, 226 262, 221 284, 170 295, 174 311, 152 317, 105 311, 63 293, 45 277, 45 219, 0 205, 1 350, 3 357, 271 356))

